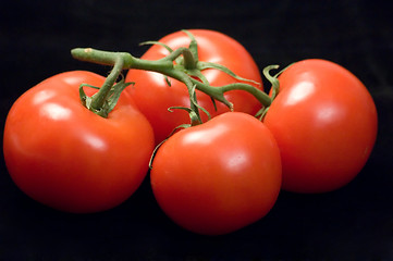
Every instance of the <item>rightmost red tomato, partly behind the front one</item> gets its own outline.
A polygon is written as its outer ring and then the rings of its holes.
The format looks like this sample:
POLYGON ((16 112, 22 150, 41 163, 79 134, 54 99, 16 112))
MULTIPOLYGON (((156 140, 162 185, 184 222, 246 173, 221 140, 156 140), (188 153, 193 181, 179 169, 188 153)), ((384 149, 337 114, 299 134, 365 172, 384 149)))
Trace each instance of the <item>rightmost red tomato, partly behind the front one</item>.
POLYGON ((346 69, 310 59, 279 76, 280 92, 265 124, 281 150, 283 189, 326 192, 349 183, 377 137, 377 110, 346 69))

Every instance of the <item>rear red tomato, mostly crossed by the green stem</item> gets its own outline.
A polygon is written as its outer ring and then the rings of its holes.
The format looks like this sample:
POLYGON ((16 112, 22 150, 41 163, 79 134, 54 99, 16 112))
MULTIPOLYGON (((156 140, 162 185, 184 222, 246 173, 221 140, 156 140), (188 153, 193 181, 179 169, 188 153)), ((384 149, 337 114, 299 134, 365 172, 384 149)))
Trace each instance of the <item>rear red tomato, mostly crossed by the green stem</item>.
MULTIPOLYGON (((247 50, 236 40, 213 30, 191 29, 188 32, 195 36, 198 44, 199 61, 219 63, 243 78, 261 83, 258 66, 247 50)), ((185 33, 176 32, 167 35, 159 41, 175 50, 180 47, 188 47, 191 39, 185 33)), ((142 59, 158 60, 168 54, 169 51, 165 48, 155 45, 142 59)), ((202 74, 211 86, 238 82, 214 69, 204 70, 202 74)), ((189 122, 187 112, 168 111, 170 107, 189 107, 188 91, 183 83, 170 78, 171 86, 169 86, 163 75, 139 70, 130 70, 126 82, 135 83, 135 86, 126 88, 126 91, 131 94, 138 109, 152 125, 157 144, 167 138, 176 126, 189 122)), ((261 87, 259 86, 259 88, 261 87)), ((196 92, 199 104, 207 109, 212 116, 229 111, 226 105, 221 102, 216 102, 216 111, 209 96, 198 90, 196 92)), ((261 108, 260 103, 246 91, 231 90, 224 97, 234 103, 235 111, 255 114, 261 108)), ((204 113, 202 120, 207 120, 204 113)))

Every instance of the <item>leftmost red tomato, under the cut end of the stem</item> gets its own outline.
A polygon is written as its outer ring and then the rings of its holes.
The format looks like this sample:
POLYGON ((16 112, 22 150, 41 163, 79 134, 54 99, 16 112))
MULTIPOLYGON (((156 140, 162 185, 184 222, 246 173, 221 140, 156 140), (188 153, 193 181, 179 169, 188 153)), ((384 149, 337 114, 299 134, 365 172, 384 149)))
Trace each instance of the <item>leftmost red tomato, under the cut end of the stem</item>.
POLYGON ((146 176, 153 133, 130 97, 122 94, 108 119, 79 101, 82 83, 103 80, 89 72, 61 73, 12 105, 4 159, 12 179, 33 199, 67 212, 103 211, 127 199, 146 176))

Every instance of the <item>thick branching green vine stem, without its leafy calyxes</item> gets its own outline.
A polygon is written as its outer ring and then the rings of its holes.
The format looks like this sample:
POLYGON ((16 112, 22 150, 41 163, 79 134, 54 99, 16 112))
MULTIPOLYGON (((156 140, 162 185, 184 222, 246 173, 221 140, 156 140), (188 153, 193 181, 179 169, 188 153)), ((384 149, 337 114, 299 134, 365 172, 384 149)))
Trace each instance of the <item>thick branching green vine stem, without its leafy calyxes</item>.
MULTIPOLYGON (((109 52, 109 51, 96 50, 93 48, 75 48, 71 50, 71 54, 73 55, 73 58, 81 61, 113 66, 111 74, 109 75, 107 82, 103 85, 107 86, 106 87, 107 89, 102 90, 103 87, 102 86, 99 92, 100 91, 108 92, 108 88, 113 85, 114 80, 119 77, 122 70, 137 69, 137 70, 157 72, 168 77, 177 79, 186 85, 191 97, 193 96, 191 91, 194 88, 196 88, 209 95, 213 100, 218 100, 224 103, 226 107, 230 108, 230 110, 233 110, 233 104, 225 99, 224 92, 235 89, 248 91, 265 108, 268 108, 271 103, 271 98, 266 92, 249 84, 235 83, 224 86, 212 87, 208 83, 206 83, 206 80, 198 80, 192 77, 189 74, 193 75, 193 72, 197 71, 197 69, 195 67, 198 67, 198 63, 197 63, 198 61, 189 48, 179 48, 172 51, 168 57, 156 61, 138 59, 127 52, 109 52), (191 73, 187 71, 186 67, 184 67, 184 70, 181 70, 179 69, 179 65, 174 64, 174 61, 181 55, 183 55, 184 64, 189 69, 191 73), (187 74, 187 72, 189 74, 187 74)), ((235 75, 232 72, 229 71, 229 73, 231 74, 231 76, 235 77, 235 75)), ((197 74, 197 76, 199 76, 199 74, 197 74)), ((105 100, 106 96, 102 95, 102 97, 105 100)), ((95 110, 99 110, 99 107, 102 107, 102 97, 100 99, 91 101, 91 104, 95 108, 95 110)), ((196 102, 192 102, 192 109, 196 113, 199 113, 198 105, 196 102)))

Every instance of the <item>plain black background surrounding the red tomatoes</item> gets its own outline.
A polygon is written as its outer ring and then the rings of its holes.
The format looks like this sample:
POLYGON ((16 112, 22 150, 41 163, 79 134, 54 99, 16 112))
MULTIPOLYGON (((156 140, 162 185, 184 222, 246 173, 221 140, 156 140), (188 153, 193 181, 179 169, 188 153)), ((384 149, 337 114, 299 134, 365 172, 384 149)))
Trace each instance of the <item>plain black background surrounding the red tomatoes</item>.
POLYGON ((379 113, 374 150, 349 185, 322 195, 282 192, 261 221, 230 235, 183 231, 158 208, 148 177, 122 206, 69 214, 36 203, 1 157, 0 260, 393 260, 393 21, 389 1, 1 1, 1 129, 13 101, 94 47, 140 57, 183 28, 222 32, 262 69, 306 58, 336 62, 368 87, 379 113))

